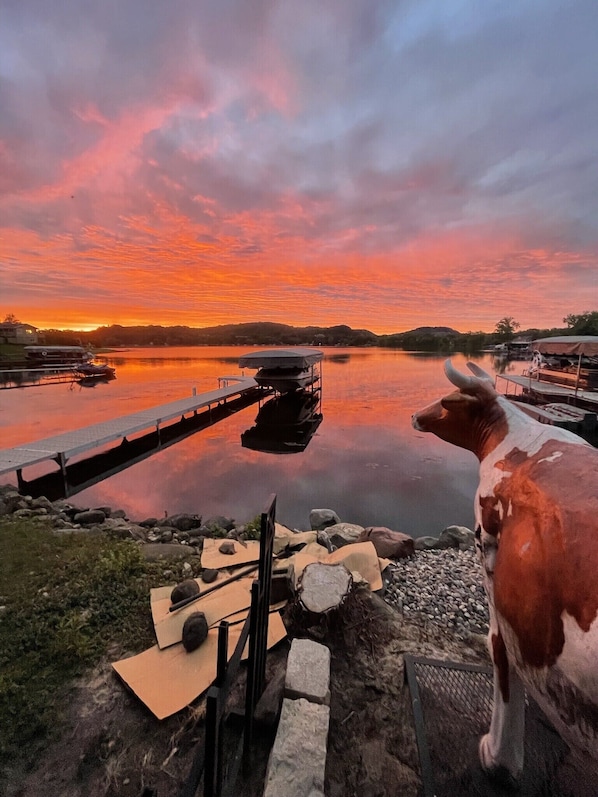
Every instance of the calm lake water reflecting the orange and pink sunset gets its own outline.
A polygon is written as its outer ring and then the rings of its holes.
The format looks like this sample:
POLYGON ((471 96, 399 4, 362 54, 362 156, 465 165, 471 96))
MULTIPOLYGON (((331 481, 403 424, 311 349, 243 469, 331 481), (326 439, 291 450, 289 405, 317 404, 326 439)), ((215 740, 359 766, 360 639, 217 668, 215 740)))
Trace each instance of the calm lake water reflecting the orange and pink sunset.
MULTIPOLYGON (((0 391, 1 445, 31 442, 197 392, 239 374, 239 347, 132 349, 108 355, 117 379, 95 388, 67 384, 0 391)), ((451 523, 472 527, 477 460, 411 427, 412 412, 450 392, 443 356, 384 349, 324 349, 324 416, 305 451, 267 454, 241 446, 258 405, 197 432, 73 496, 79 506, 110 505, 132 519, 167 511, 204 518, 255 517, 270 493, 277 518, 309 528, 314 507, 342 520, 413 536, 451 523)), ((466 358, 454 364, 465 370, 466 358)), ((494 373, 491 355, 476 358, 494 373)), ((521 363, 509 368, 519 372, 521 363)), ((253 375, 247 372, 248 375, 253 375)), ((25 474, 26 478, 32 471, 25 474)), ((0 477, 16 483, 13 474, 0 477)))

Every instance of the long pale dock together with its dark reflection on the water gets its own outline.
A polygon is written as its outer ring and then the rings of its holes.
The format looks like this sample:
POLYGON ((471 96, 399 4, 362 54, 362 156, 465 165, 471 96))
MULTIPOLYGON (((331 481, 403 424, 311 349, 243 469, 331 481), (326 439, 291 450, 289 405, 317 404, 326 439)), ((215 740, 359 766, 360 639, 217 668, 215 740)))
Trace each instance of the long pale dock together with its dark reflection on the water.
POLYGON ((0 475, 16 471, 21 492, 46 495, 51 500, 72 495, 270 393, 249 377, 220 377, 218 381, 217 390, 2 449, 0 475), (130 441, 133 435, 140 437, 130 441), (96 451, 90 459, 69 465, 73 457, 115 441, 120 445, 109 452, 96 451), (30 482, 24 480, 24 468, 52 461, 58 471, 30 482))

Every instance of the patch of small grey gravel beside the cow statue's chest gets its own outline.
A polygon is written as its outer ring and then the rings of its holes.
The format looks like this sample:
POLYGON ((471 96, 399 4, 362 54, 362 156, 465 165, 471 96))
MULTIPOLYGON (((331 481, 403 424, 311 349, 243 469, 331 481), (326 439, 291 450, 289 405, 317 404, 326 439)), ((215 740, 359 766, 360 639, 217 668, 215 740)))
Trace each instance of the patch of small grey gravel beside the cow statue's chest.
POLYGON ((405 616, 455 633, 488 633, 488 607, 482 569, 473 550, 418 551, 389 568, 392 581, 384 599, 405 616))

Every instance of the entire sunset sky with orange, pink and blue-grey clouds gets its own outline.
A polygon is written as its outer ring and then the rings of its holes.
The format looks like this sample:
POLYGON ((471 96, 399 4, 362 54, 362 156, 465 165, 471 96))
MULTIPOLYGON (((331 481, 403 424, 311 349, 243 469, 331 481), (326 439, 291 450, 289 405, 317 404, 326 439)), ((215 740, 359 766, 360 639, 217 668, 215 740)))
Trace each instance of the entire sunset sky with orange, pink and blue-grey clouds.
POLYGON ((491 331, 597 288, 596 0, 0 0, 2 317, 491 331))

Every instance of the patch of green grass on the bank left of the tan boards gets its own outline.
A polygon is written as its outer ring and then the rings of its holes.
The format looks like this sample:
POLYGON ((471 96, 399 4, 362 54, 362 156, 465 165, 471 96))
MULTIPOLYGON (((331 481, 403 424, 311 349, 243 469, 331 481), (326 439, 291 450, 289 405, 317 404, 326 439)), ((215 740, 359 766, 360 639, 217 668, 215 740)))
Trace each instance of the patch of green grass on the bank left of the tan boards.
MULTIPOLYGON (((61 534, 0 519, 0 765, 43 743, 61 692, 110 647, 155 643, 149 590, 164 562, 105 534, 61 534)), ((175 573, 180 563, 169 563, 175 573)))

